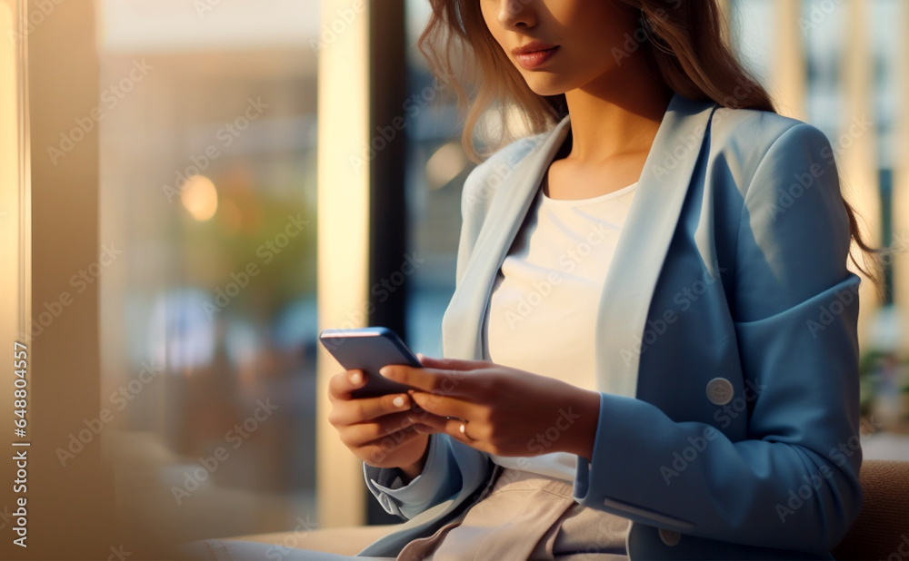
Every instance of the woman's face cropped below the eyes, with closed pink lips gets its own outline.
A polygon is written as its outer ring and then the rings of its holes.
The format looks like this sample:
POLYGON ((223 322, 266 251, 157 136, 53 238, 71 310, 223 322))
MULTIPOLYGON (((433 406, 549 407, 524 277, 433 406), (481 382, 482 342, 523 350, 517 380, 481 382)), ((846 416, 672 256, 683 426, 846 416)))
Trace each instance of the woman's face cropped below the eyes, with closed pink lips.
POLYGON ((636 10, 619 0, 478 1, 490 33, 535 94, 608 79, 643 53, 636 10))

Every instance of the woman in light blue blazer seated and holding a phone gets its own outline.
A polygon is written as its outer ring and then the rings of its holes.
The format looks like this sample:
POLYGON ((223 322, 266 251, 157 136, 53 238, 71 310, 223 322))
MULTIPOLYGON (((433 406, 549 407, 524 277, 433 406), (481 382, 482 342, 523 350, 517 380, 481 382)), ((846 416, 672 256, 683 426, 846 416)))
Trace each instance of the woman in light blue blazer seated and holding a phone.
POLYGON ((437 73, 475 61, 468 153, 493 103, 535 134, 464 184, 446 358, 383 369, 405 394, 331 380, 407 519, 360 555, 830 558, 872 250, 824 135, 774 113, 713 0, 430 2, 437 73))

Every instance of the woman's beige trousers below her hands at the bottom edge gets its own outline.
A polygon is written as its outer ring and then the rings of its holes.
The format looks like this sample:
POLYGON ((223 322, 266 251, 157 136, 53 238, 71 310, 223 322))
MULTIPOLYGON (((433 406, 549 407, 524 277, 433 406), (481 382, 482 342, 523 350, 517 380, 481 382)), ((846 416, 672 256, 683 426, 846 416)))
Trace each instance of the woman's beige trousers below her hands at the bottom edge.
MULTIPOLYGON (((561 479, 497 467, 493 482, 486 487, 479 501, 432 536, 417 538, 407 544, 397 560, 627 559, 625 536, 629 520, 581 507, 574 502, 573 490, 570 483, 561 479)), ((231 561, 379 559, 351 556, 383 533, 373 532, 365 536, 368 539, 353 539, 359 536, 360 530, 350 530, 357 536, 337 536, 339 530, 316 530, 306 539, 295 542, 296 547, 278 546, 280 542, 270 543, 269 540, 254 542, 248 538, 209 539, 186 546, 182 553, 186 559, 231 561), (320 533, 325 534, 325 539, 320 533), (339 543, 353 549, 345 547, 347 555, 338 555, 341 553, 339 543)), ((391 560, 390 557, 382 559, 391 560)))

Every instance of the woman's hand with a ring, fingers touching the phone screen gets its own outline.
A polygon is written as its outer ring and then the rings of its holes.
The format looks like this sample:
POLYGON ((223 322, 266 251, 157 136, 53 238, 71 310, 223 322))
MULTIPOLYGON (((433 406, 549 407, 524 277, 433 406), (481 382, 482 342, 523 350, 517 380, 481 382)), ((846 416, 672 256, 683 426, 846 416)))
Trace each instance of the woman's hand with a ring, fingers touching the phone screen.
POLYGON ((423 369, 379 370, 415 388, 411 398, 429 414, 411 414, 414 422, 499 456, 569 452, 591 458, 598 392, 488 360, 420 360, 423 369))

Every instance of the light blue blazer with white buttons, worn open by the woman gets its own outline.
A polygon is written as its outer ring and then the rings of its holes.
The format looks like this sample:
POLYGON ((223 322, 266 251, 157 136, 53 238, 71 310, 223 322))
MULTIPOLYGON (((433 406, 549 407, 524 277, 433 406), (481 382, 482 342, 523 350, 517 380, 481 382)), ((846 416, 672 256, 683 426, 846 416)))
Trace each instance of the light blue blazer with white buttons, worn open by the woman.
MULTIPOLYGON (((569 133, 565 117, 464 183, 445 357, 483 359, 496 273, 569 133)), ((632 559, 831 558, 862 502, 849 243, 823 133, 674 96, 604 281, 599 424, 574 481, 580 504, 633 521, 632 559)), ((407 486, 364 471, 407 521, 360 555, 394 556, 469 507, 492 464, 434 435, 407 486)))

